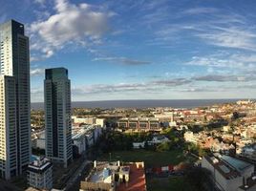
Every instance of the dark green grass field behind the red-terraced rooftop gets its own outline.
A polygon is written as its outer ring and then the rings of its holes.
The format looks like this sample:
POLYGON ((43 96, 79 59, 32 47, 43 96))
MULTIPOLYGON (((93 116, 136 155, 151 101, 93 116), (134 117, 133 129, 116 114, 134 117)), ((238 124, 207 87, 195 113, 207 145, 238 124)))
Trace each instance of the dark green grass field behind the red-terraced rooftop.
POLYGON ((178 164, 186 158, 181 150, 173 150, 166 152, 132 150, 132 151, 115 151, 110 154, 105 154, 98 160, 121 160, 121 161, 144 161, 146 167, 162 166, 167 164, 178 164))

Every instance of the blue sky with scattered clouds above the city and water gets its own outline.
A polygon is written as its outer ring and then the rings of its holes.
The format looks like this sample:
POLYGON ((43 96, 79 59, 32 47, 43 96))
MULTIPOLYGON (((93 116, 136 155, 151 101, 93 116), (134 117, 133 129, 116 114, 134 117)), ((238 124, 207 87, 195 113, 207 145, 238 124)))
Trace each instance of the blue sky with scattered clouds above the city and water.
POLYGON ((32 102, 46 68, 73 101, 256 97, 255 0, 0 0, 25 24, 32 102))

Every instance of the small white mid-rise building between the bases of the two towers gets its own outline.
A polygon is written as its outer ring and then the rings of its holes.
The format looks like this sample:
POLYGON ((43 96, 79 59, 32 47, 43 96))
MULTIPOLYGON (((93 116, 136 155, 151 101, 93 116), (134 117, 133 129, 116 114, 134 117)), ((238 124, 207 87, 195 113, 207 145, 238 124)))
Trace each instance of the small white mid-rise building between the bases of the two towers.
POLYGON ((53 188, 53 164, 49 159, 35 159, 28 166, 28 184, 40 190, 53 188))

